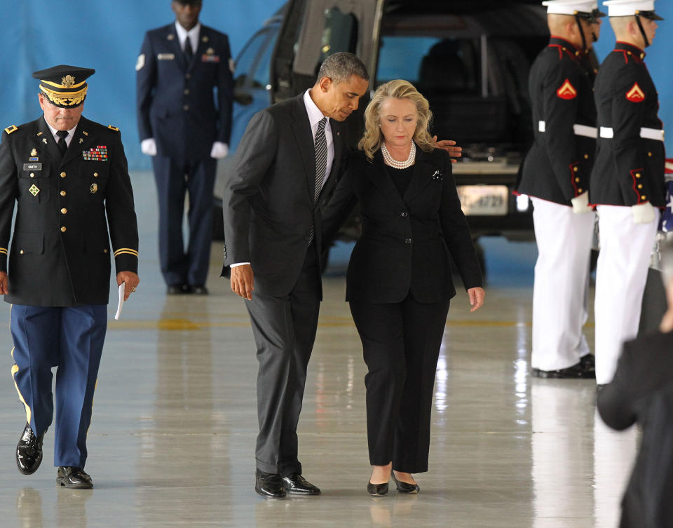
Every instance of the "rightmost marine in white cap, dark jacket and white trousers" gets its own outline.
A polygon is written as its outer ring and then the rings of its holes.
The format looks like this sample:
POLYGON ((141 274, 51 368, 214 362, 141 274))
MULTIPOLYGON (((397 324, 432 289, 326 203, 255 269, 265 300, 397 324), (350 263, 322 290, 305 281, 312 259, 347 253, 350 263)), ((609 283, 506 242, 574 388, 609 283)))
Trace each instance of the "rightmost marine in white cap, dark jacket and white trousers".
POLYGON ((599 138, 590 179, 597 204, 596 382, 609 383, 622 343, 638 332, 647 269, 665 205, 664 131, 644 49, 655 36, 654 0, 612 0, 615 49, 596 77, 599 138))

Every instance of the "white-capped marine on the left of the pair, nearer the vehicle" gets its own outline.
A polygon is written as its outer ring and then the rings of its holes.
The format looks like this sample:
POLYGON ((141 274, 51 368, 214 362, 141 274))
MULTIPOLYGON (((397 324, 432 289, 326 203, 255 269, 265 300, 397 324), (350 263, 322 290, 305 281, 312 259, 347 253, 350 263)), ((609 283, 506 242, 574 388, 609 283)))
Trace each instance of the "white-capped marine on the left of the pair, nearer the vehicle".
POLYGON ((529 77, 535 142, 518 191, 533 201, 538 245, 533 285, 533 375, 594 377, 582 333, 594 226, 588 183, 596 108, 587 51, 602 13, 593 0, 550 0, 551 39, 529 77))

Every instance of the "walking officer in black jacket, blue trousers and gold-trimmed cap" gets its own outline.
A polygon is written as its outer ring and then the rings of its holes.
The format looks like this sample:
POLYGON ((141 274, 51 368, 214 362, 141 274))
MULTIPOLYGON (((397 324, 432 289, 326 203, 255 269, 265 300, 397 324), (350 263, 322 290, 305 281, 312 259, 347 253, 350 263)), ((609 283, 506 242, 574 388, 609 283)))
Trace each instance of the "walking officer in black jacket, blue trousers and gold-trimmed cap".
POLYGON ((125 299, 138 285, 121 135, 82 117, 94 71, 60 65, 35 72, 44 115, 5 128, 0 144, 0 295, 13 304, 12 374, 27 417, 16 463, 24 475, 39 468, 55 411, 57 482, 73 488, 93 487, 84 471, 86 433, 107 328, 111 250, 125 299))

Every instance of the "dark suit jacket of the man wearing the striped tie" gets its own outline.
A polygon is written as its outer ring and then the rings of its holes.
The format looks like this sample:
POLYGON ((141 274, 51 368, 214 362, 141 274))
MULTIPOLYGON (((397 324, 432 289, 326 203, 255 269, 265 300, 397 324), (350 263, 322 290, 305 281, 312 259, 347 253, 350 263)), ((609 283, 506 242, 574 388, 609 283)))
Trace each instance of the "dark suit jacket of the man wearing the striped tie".
POLYGON ((304 94, 255 114, 236 150, 235 170, 226 182, 224 267, 250 262, 255 290, 287 295, 299 278, 306 248, 315 233, 320 253, 320 205, 341 171, 344 153, 340 123, 329 121, 334 162, 318 203, 315 193, 315 148, 304 94))

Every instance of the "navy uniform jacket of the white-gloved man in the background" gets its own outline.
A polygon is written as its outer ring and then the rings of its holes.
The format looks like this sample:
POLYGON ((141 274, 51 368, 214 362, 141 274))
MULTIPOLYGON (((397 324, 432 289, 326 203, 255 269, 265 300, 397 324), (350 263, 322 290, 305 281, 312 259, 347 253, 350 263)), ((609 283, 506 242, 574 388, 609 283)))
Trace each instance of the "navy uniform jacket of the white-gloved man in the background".
POLYGON ((136 65, 140 140, 154 137, 160 156, 177 159, 208 158, 213 142, 229 143, 230 60, 226 34, 208 26, 189 63, 175 23, 147 32, 136 65))

